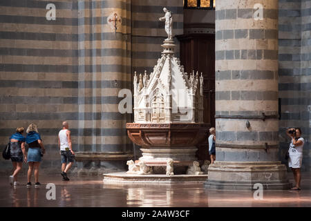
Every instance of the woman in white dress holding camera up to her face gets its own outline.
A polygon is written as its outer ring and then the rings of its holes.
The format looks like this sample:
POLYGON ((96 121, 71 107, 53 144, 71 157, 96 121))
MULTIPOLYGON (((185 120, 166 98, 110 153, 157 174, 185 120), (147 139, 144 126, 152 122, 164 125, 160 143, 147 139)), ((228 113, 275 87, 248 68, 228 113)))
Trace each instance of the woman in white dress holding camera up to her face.
POLYGON ((303 159, 303 144, 305 144, 305 140, 301 136, 300 128, 288 128, 286 134, 292 139, 290 142, 290 149, 288 150, 289 158, 288 158, 288 166, 292 168, 292 172, 294 173, 294 179, 296 185, 292 188, 292 190, 300 190, 300 182, 301 182, 301 163, 303 159))

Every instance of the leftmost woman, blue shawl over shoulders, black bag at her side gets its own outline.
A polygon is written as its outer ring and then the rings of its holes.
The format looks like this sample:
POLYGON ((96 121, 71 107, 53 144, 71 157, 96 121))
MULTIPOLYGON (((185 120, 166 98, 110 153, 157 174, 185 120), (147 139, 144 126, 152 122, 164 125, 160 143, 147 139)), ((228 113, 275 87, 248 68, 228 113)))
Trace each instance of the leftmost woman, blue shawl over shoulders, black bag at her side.
POLYGON ((27 162, 27 156, 25 151, 25 137, 23 137, 23 127, 16 129, 16 133, 10 136, 10 157, 13 164, 14 172, 10 175, 10 184, 17 186, 17 175, 21 171, 23 161, 27 162))

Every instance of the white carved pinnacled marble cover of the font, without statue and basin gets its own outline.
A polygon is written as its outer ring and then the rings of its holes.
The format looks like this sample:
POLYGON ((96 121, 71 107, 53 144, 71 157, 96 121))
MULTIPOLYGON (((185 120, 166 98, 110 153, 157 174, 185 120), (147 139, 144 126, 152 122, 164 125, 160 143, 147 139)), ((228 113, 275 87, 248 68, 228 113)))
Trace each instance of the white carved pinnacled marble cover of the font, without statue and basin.
POLYGON ((134 76, 135 122, 170 123, 202 122, 202 73, 184 72, 174 56, 175 45, 165 40, 162 56, 153 72, 134 76))

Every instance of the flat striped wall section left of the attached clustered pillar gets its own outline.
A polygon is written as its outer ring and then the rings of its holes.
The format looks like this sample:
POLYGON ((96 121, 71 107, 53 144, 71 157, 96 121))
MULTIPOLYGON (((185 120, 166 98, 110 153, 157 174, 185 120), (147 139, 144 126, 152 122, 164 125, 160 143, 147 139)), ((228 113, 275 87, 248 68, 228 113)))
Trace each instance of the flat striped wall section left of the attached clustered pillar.
MULTIPOLYGON (((0 1, 0 146, 19 126, 39 127, 47 155, 60 165, 57 133, 68 120, 77 143, 78 35, 76 1, 0 1), (56 20, 46 19, 54 3, 56 20)), ((25 131, 26 133, 26 131, 25 131)), ((10 162, 0 160, 1 168, 10 162)))

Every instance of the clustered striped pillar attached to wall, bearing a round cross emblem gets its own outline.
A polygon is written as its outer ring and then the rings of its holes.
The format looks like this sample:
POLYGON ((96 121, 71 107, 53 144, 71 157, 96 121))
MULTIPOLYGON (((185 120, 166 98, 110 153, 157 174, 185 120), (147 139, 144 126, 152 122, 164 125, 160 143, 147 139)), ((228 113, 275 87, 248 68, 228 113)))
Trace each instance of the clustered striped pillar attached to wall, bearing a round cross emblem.
POLYGON ((133 146, 118 93, 131 88, 131 1, 79 1, 78 19, 78 168, 124 169, 133 146))

